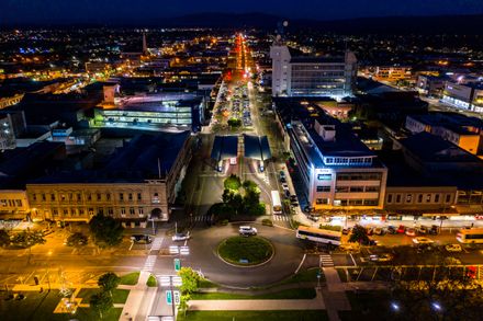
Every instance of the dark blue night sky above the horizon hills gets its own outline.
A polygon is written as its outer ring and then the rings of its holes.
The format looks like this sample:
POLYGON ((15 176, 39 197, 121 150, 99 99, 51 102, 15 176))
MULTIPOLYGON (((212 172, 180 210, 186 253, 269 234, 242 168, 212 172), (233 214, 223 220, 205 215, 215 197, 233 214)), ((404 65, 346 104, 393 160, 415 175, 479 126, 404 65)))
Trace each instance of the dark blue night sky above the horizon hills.
POLYGON ((0 24, 132 23, 202 12, 317 20, 483 13, 483 0, 0 0, 0 24))

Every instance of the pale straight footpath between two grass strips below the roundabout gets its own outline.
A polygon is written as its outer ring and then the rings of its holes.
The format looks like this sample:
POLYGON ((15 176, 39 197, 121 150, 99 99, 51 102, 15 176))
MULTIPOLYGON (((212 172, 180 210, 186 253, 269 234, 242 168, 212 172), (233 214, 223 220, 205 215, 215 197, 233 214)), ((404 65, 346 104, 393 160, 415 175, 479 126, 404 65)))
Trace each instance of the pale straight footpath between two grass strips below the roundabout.
POLYGON ((191 300, 190 310, 237 311, 237 310, 324 310, 321 290, 310 300, 191 300))

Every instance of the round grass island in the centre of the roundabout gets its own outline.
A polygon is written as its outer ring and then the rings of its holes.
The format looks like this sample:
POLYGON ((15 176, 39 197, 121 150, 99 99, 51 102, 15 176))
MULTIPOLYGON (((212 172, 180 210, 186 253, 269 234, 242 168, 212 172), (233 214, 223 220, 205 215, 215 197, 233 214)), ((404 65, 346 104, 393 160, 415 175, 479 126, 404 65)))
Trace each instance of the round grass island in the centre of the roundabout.
POLYGON ((259 237, 233 237, 220 243, 218 254, 233 264, 254 265, 267 261, 273 254, 273 247, 259 237), (240 263, 240 260, 248 263, 240 263))

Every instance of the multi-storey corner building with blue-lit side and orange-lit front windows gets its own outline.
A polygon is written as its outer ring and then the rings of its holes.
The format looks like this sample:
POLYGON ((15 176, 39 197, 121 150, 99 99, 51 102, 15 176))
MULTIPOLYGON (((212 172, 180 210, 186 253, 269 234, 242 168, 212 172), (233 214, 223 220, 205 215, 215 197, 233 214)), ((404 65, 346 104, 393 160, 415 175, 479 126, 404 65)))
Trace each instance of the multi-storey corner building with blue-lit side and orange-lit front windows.
POLYGON ((317 211, 383 208, 387 169, 349 125, 287 99, 276 100, 276 108, 310 206, 317 211))

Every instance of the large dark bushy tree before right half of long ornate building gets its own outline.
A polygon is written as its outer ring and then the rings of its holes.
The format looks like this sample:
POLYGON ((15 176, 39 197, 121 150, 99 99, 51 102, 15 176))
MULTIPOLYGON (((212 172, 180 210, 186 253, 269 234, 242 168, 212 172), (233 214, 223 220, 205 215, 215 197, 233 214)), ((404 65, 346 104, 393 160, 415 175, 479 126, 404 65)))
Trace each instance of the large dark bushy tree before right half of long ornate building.
POLYGON ((96 242, 103 242, 108 245, 116 245, 123 239, 124 228, 121 222, 110 216, 96 215, 89 222, 89 228, 96 238, 96 242))

